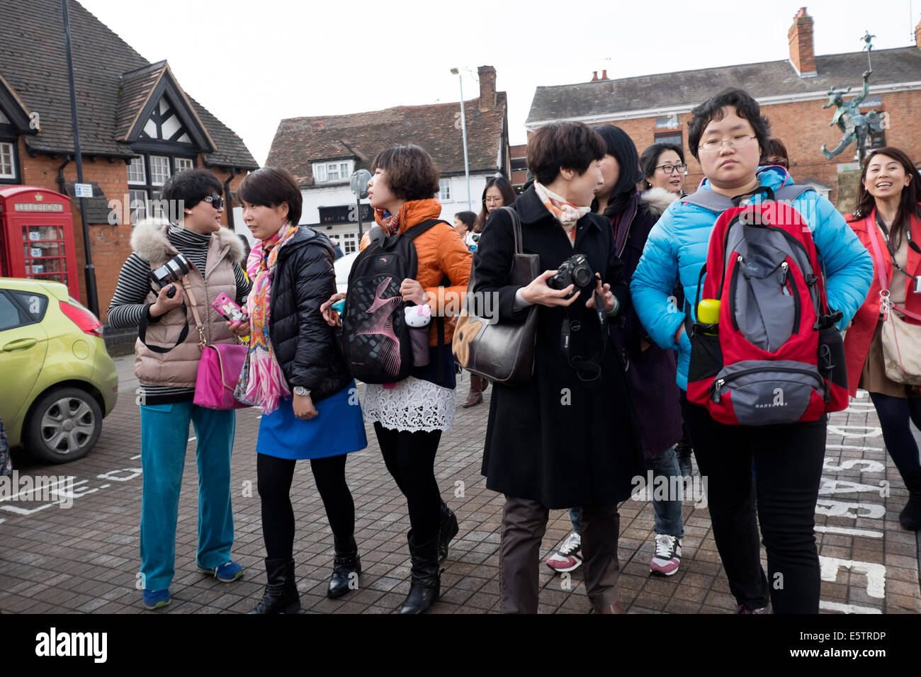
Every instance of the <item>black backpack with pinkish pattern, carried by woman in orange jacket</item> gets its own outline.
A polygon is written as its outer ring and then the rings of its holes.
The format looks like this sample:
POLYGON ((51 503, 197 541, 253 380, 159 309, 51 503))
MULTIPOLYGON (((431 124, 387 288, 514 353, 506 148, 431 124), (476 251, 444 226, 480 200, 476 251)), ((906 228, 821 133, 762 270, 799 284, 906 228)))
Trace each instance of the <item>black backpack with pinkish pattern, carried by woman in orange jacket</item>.
MULTIPOLYGON (((400 285, 417 272, 413 239, 439 223, 447 222, 428 219, 390 238, 376 226, 367 247, 352 263, 338 335, 345 364, 356 379, 395 383, 410 376, 413 345, 400 285)), ((444 318, 436 321, 438 338, 444 343, 444 318)))

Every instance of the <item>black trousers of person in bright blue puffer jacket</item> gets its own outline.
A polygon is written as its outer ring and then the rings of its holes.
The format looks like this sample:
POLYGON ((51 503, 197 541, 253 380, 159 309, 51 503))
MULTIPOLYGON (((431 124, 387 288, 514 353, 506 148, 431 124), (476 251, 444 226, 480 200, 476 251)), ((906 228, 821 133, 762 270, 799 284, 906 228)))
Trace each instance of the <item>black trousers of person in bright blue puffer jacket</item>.
POLYGON ((706 483, 717 550, 736 601, 758 609, 770 597, 774 613, 819 613, 814 528, 827 416, 787 426, 725 426, 705 407, 689 403, 684 391, 681 403, 706 483))

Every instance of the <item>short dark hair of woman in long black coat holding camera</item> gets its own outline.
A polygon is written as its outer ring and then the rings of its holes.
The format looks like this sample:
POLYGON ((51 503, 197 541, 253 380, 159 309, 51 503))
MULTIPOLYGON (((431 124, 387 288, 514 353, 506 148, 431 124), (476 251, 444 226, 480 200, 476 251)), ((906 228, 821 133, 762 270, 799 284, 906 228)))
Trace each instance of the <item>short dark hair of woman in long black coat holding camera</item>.
POLYGON ((607 152, 601 135, 583 123, 549 123, 528 141, 528 169, 543 185, 553 183, 560 169, 580 176, 607 152))

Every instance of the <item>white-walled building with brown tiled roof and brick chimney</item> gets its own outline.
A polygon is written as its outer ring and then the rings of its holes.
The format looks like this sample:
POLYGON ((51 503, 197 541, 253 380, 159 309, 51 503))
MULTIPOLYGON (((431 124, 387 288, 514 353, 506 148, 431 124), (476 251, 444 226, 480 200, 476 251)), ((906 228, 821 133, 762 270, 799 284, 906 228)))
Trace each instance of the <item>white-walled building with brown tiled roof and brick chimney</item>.
MULTIPOLYGON (((495 68, 478 69, 480 96, 464 101, 470 203, 479 212, 486 181, 511 173, 506 92, 495 90, 495 68)), ((389 146, 416 144, 428 151, 440 173, 441 217, 453 222, 467 209, 460 102, 397 106, 383 111, 287 118, 278 124, 265 164, 287 169, 304 196, 301 224, 320 228, 344 253, 356 251, 356 199, 349 182, 358 169, 370 169, 389 146)), ((373 214, 362 205, 367 230, 373 214)))

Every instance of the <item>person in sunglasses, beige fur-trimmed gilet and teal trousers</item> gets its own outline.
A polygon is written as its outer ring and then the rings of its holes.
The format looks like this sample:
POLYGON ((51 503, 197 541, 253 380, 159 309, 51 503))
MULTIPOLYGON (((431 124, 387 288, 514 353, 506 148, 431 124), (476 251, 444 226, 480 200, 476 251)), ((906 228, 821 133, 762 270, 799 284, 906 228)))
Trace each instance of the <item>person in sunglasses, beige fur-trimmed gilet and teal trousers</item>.
POLYGON ((163 200, 170 206, 182 205, 180 218, 177 223, 156 218, 134 226, 134 251, 122 265, 109 306, 111 327, 140 328, 134 375, 140 381, 141 585, 147 609, 159 609, 170 600, 190 422, 195 426, 198 462, 195 564, 224 582, 243 576, 243 567, 230 558, 235 414, 192 403, 202 356, 195 312, 208 344, 235 343, 211 302, 224 293, 241 304, 250 291, 239 264, 243 245, 233 231, 221 226, 222 190, 217 177, 205 169, 182 171, 163 184, 163 200), (151 271, 179 254, 189 264, 187 273, 162 288, 152 285, 151 271))

